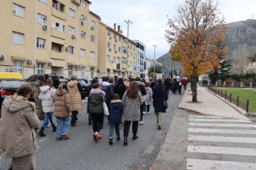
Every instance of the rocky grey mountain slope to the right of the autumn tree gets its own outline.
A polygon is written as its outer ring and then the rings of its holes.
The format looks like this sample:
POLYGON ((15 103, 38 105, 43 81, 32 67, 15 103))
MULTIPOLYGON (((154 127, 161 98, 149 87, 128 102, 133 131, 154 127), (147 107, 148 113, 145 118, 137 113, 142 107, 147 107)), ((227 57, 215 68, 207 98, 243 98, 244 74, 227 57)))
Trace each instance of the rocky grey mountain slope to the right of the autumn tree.
POLYGON ((232 60, 235 50, 246 50, 245 57, 252 57, 256 52, 256 20, 238 21, 227 23, 225 44, 229 47, 228 59, 232 60))

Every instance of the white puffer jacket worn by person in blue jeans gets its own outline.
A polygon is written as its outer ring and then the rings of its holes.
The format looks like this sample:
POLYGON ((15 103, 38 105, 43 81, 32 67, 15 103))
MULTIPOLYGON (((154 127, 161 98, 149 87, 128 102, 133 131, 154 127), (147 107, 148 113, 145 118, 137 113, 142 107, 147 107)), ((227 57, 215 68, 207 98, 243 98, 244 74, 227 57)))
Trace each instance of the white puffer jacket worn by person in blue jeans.
POLYGON ((43 112, 44 113, 53 113, 54 104, 53 97, 55 95, 55 89, 50 88, 50 86, 41 86, 40 95, 38 98, 42 101, 43 112))

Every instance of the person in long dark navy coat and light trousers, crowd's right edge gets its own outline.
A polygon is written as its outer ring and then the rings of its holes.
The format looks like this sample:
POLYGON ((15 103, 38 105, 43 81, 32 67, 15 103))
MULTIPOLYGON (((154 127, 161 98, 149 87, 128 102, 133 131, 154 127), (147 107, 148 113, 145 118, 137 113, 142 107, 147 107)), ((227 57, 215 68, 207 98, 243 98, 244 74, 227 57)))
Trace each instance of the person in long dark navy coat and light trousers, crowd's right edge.
POLYGON ((166 108, 164 108, 164 100, 167 101, 169 95, 166 91, 166 87, 163 85, 163 80, 158 79, 157 83, 158 84, 154 86, 152 98, 154 110, 156 112, 156 122, 158 125, 158 129, 161 130, 163 113, 166 113, 166 108))

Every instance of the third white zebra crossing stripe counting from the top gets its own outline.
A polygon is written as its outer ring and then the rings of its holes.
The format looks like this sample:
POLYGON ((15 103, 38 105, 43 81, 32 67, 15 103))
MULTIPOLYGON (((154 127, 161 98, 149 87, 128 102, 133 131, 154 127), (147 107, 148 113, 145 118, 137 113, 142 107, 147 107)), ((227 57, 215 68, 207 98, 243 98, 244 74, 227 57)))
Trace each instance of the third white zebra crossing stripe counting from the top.
POLYGON ((206 127, 234 127, 234 128, 256 128, 251 124, 228 124, 228 123, 188 123, 190 126, 206 126, 206 127))

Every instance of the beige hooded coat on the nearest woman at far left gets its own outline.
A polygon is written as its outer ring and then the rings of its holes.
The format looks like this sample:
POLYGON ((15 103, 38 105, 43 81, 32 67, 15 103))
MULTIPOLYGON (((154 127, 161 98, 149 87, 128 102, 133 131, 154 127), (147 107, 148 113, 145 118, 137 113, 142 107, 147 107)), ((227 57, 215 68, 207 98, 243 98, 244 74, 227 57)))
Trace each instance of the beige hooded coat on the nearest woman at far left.
POLYGON ((6 96, 1 109, 0 154, 6 157, 22 157, 33 154, 39 148, 39 139, 34 128, 40 120, 35 103, 23 96, 6 96))

